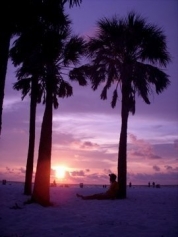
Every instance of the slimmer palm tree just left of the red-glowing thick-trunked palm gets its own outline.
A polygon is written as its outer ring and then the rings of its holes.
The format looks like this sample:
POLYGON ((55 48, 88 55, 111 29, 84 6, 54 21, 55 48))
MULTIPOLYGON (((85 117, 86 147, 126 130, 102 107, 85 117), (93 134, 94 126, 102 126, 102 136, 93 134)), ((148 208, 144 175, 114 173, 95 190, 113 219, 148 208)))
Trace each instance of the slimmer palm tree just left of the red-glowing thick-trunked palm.
MULTIPOLYGON (((46 29, 46 25, 45 25, 46 29)), ((43 86, 40 83, 43 72, 41 60, 41 41, 43 38, 43 25, 38 17, 29 23, 29 27, 14 41, 10 49, 10 57, 15 67, 19 66, 16 77, 17 82, 14 89, 22 91, 22 99, 29 94, 30 101, 30 123, 29 144, 26 163, 26 176, 24 194, 32 192, 32 174, 35 149, 35 121, 37 102, 41 102, 43 86)))

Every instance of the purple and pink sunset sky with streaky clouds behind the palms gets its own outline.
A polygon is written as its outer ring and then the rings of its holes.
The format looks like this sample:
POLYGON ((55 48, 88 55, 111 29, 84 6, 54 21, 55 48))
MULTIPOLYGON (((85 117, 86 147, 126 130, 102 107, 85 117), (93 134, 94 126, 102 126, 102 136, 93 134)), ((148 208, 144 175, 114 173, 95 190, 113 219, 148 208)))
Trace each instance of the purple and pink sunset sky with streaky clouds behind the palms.
MULTIPOLYGON (((83 0, 68 9, 74 33, 92 35, 102 17, 125 17, 134 10, 147 22, 162 27, 172 63, 166 68, 171 85, 161 95, 151 95, 151 105, 137 100, 136 114, 128 124, 128 182, 178 184, 178 1, 83 0)), ((24 181, 29 128, 29 97, 21 101, 12 89, 15 69, 9 62, 0 137, 0 179, 24 181)), ((61 99, 54 111, 52 171, 67 167, 64 182, 103 183, 117 172, 120 134, 120 100, 115 109, 111 97, 100 100, 101 88, 73 83, 74 95, 61 99)), ((35 164, 43 106, 38 106, 35 164)), ((54 172, 52 172, 53 178, 54 172)), ((57 180, 62 181, 62 180, 57 180)))

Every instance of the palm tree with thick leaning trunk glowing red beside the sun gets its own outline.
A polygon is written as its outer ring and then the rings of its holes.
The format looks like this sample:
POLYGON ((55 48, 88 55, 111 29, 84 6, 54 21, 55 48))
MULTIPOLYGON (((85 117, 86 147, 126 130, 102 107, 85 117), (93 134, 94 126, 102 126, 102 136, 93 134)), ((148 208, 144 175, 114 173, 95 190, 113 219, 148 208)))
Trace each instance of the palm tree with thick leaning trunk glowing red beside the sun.
MULTIPOLYGON (((53 107, 58 108, 58 97, 72 95, 72 87, 67 82, 64 69, 79 63, 84 54, 85 42, 78 36, 71 36, 70 24, 45 33, 42 58, 43 82, 45 85, 45 111, 41 127, 37 169, 35 175, 32 201, 47 206, 50 204, 50 170, 52 147, 53 107)), ((79 84, 85 85, 80 82, 79 84)))

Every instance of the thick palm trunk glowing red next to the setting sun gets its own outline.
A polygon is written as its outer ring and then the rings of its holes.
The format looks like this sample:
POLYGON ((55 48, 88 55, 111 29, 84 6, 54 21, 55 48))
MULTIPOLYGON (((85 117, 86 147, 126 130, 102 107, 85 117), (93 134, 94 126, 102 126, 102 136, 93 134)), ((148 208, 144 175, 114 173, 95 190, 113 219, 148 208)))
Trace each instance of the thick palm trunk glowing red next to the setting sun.
POLYGON ((52 146, 52 93, 47 91, 46 107, 43 116, 37 169, 32 201, 42 206, 50 205, 50 170, 52 146))

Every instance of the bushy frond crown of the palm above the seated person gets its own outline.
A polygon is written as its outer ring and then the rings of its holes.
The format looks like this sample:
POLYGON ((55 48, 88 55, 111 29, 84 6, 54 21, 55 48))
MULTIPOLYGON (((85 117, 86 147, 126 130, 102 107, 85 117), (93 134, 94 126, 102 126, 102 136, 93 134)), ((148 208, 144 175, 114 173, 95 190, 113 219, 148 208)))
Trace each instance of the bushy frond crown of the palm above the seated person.
MULTIPOLYGON (((105 87, 101 99, 107 98, 111 84, 127 84, 130 87, 130 110, 134 110, 137 92, 149 104, 149 94, 154 85, 161 93, 170 81, 168 75, 157 66, 166 66, 170 55, 166 49, 166 37, 155 25, 131 12, 125 19, 113 17, 98 21, 98 31, 89 41, 88 55, 91 58, 93 89, 101 82, 105 87)), ((117 86, 114 90, 112 107, 117 100, 117 86)))

